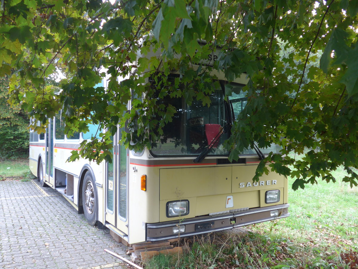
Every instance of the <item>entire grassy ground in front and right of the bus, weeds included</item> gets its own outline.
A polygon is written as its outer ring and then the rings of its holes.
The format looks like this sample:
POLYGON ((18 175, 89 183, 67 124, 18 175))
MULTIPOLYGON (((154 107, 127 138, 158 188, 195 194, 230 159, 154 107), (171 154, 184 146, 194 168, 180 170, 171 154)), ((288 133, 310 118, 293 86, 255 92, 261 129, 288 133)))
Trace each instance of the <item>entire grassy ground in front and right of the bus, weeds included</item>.
MULTIPOLYGON (((358 188, 319 182, 289 189, 291 216, 247 226, 247 233, 218 232, 193 239, 180 259, 159 255, 146 269, 353 269, 358 268, 358 188)), ((293 180, 289 180, 290 184, 293 180)), ((181 240, 183 241, 183 240, 181 240)), ((185 240, 184 240, 185 242, 185 240)), ((187 243, 184 243, 187 244, 187 243)))

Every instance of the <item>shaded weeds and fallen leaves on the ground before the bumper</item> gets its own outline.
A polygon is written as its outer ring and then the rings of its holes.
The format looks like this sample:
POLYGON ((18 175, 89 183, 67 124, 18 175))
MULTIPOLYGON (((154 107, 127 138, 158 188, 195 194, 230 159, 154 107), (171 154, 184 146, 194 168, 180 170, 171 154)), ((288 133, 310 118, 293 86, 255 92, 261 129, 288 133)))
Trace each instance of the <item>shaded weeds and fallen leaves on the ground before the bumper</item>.
POLYGON ((190 245, 182 255, 159 254, 145 261, 148 269, 206 269, 206 268, 356 268, 357 252, 344 249, 342 253, 323 247, 276 237, 245 233, 217 232, 185 242, 190 245), (194 241, 194 242, 193 242, 194 241))

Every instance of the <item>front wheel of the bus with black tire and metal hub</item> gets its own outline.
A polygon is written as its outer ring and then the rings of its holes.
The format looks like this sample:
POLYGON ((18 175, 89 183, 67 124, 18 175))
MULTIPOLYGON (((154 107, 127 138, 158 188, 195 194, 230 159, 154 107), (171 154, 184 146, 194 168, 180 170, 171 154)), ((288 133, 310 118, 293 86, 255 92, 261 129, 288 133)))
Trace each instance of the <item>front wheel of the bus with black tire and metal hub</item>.
POLYGON ((82 205, 84 217, 91 226, 95 226, 97 222, 97 195, 95 187, 95 180, 93 180, 91 172, 87 171, 82 184, 82 205))

